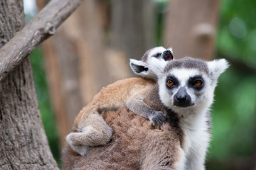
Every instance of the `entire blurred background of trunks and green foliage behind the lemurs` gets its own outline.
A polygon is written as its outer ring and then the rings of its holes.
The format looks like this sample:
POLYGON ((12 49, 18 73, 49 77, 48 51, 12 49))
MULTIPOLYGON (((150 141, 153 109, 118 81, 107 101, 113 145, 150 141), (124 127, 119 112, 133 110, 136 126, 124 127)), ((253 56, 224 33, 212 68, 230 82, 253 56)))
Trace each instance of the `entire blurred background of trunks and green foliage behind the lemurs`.
MULTIPOLYGON (((47 0, 23 0, 28 22, 47 0)), ((206 169, 256 169, 256 1, 86 0, 31 54, 50 149, 60 163, 73 120, 102 86, 133 77, 154 46, 176 59, 226 58, 212 107, 206 169)))

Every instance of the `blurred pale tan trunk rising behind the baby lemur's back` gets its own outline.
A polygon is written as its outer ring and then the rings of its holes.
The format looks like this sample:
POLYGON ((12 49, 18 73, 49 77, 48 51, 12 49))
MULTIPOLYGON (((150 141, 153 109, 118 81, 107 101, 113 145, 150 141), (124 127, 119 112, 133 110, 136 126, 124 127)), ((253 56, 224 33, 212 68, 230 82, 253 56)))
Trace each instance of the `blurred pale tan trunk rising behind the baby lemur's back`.
POLYGON ((100 18, 98 1, 83 1, 78 9, 77 47, 80 58, 80 90, 82 99, 88 103, 110 83, 105 58, 104 30, 100 18))

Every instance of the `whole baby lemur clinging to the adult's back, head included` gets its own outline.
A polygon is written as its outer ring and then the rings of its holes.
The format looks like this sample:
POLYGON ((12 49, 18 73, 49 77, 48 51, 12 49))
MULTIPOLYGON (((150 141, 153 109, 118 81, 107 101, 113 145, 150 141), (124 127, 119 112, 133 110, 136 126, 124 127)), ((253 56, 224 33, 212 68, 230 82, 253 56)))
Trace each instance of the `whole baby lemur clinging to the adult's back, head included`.
POLYGON ((73 132, 66 137, 66 141, 75 152, 84 156, 89 147, 105 145, 110 141, 112 128, 103 120, 100 114, 102 111, 127 106, 133 113, 149 118, 153 125, 164 123, 166 116, 161 111, 150 108, 143 101, 146 91, 156 84, 156 74, 151 69, 153 58, 156 59, 154 62, 164 69, 166 61, 173 60, 174 56, 171 48, 154 47, 145 52, 141 61, 130 60, 130 67, 134 73, 147 79, 130 78, 110 84, 102 88, 92 101, 82 108, 75 118, 73 132))

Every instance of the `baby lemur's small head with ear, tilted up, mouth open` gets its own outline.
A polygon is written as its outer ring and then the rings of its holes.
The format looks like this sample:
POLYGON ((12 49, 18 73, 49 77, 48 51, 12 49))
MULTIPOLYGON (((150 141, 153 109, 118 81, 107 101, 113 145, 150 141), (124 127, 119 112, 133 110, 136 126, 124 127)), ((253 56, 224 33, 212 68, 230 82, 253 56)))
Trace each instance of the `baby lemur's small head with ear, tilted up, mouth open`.
POLYGON ((148 79, 155 79, 156 80, 156 74, 152 72, 151 67, 154 67, 151 65, 151 60, 154 60, 154 64, 158 64, 159 67, 164 68, 166 66, 166 62, 169 60, 174 60, 174 55, 172 52, 172 48, 164 48, 164 47, 154 47, 150 50, 147 50, 145 54, 142 57, 142 60, 134 60, 130 59, 130 67, 132 68, 132 71, 142 77, 148 78, 148 79))

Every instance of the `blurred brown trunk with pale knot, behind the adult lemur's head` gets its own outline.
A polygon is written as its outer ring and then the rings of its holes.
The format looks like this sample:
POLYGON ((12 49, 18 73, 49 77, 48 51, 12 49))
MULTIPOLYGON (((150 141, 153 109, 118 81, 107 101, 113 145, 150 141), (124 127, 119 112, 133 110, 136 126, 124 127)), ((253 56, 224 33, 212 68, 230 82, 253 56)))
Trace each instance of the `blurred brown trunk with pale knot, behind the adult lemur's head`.
POLYGON ((174 48, 176 58, 213 58, 218 6, 218 0, 172 0, 169 3, 164 45, 174 48))

